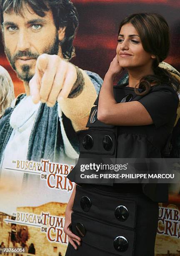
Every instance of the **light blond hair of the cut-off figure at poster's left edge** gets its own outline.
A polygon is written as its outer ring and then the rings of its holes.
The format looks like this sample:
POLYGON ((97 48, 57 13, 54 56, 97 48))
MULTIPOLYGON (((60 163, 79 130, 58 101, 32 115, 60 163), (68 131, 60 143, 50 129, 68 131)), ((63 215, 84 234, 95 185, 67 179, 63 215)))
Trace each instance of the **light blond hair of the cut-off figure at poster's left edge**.
POLYGON ((13 81, 7 70, 0 66, 0 117, 4 114, 5 109, 10 107, 13 99, 13 81))

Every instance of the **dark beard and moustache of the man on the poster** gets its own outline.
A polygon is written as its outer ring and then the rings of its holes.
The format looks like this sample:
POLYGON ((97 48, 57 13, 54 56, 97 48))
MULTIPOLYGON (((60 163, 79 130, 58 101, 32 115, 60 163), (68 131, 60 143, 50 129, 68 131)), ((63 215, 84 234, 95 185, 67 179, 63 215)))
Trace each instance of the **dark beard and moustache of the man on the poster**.
MULTIPOLYGON (((58 33, 56 33, 55 40, 54 40, 53 44, 46 47, 41 54, 46 53, 46 54, 51 54, 51 55, 52 54, 57 55, 58 51, 59 51, 59 45, 60 45, 60 41, 59 41, 59 38, 58 38, 58 33)), ((7 56, 7 59, 10 62, 11 67, 15 70, 18 77, 21 80, 23 80, 24 82, 29 82, 30 79, 34 76, 34 74, 32 74, 30 72, 30 68, 31 68, 32 65, 28 65, 28 64, 22 65, 21 66, 22 72, 20 73, 15 67, 15 61, 18 58, 23 57, 23 56, 24 57, 30 57, 32 59, 37 59, 40 54, 32 53, 31 51, 27 50, 27 51, 18 51, 13 56, 11 56, 9 49, 7 49, 6 47, 5 47, 5 54, 7 56)))

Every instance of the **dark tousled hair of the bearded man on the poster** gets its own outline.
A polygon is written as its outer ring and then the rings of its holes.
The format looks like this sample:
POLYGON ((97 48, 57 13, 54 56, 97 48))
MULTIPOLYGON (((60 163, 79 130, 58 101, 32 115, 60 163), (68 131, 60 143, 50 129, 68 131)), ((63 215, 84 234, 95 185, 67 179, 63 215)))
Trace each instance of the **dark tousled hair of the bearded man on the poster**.
POLYGON ((3 25, 3 13, 23 15, 23 5, 29 6, 40 17, 51 10, 57 29, 66 27, 65 38, 60 41, 62 54, 65 59, 75 56, 72 45, 79 25, 77 10, 70 0, 0 0, 0 23, 3 25))

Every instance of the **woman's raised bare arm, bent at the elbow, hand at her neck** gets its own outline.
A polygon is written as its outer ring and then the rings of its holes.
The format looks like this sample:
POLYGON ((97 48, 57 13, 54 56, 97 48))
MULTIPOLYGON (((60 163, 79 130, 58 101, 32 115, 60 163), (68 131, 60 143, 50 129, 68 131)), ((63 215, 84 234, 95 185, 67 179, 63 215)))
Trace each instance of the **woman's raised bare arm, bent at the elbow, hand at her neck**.
POLYGON ((113 59, 100 89, 97 119, 112 125, 150 125, 153 120, 143 104, 138 101, 117 103, 113 93, 113 81, 120 73, 117 57, 113 59))

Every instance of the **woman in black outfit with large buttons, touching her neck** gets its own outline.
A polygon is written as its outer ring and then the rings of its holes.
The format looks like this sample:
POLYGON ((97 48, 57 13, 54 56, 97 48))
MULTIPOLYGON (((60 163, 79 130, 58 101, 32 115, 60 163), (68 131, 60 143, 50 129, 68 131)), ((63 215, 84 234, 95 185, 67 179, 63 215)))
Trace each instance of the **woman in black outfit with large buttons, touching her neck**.
MULTIPOLYGON (((117 55, 97 106, 92 107, 89 129, 77 133, 79 158, 164 156, 179 103, 178 81, 158 67, 169 45, 169 28, 162 16, 139 13, 122 20, 117 55), (113 87, 123 68, 128 84, 113 87)), ((75 166, 68 178, 77 182, 77 173, 75 166)), ((167 184, 76 185, 65 213, 66 256, 153 256, 158 202, 167 201, 167 184)))

